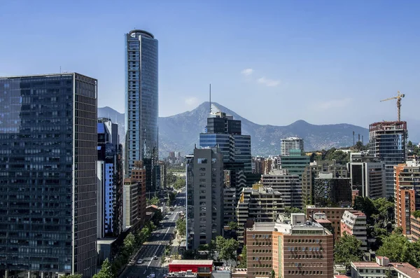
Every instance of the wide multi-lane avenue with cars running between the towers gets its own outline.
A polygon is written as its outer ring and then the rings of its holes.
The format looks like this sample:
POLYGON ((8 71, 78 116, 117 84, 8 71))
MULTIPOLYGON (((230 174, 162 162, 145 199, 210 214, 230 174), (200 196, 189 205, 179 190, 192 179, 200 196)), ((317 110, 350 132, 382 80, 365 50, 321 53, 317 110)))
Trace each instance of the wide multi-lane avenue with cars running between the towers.
MULTIPOLYGON (((165 246, 169 244, 169 240, 174 235, 176 220, 178 220, 180 212, 185 211, 185 207, 178 206, 179 204, 185 204, 183 198, 185 198, 185 191, 176 195, 176 209, 169 212, 166 216, 167 219, 165 217, 162 220, 162 228, 152 232, 151 239, 141 246, 137 255, 134 256, 134 261, 130 262, 125 271, 120 275, 121 278, 143 278, 151 273, 155 273, 157 278, 163 277, 163 274, 167 270, 164 272, 162 268, 162 254, 165 252, 165 246), (157 258, 153 259, 154 256, 157 258), (143 260, 141 265, 137 265, 137 260, 139 259, 143 260)), ((176 250, 172 251, 176 252, 176 250)))

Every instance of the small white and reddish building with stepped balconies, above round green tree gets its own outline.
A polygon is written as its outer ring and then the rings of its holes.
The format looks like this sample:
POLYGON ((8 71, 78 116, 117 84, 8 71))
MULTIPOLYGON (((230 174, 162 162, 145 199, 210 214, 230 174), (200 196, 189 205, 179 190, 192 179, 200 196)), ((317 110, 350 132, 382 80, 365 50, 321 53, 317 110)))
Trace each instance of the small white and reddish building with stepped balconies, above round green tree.
POLYGON ((366 215, 361 211, 344 211, 341 220, 341 236, 353 235, 362 242, 360 250, 367 251, 366 215))

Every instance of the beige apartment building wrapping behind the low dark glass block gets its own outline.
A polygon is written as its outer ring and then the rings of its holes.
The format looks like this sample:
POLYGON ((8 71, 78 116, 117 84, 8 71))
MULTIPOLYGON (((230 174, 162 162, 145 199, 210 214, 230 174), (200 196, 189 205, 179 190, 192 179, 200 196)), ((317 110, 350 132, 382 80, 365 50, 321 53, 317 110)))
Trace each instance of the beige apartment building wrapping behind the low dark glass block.
POLYGON ((302 173, 302 205, 314 204, 314 184, 321 172, 331 172, 332 176, 347 177, 345 165, 339 165, 335 160, 318 160, 311 162, 302 173))

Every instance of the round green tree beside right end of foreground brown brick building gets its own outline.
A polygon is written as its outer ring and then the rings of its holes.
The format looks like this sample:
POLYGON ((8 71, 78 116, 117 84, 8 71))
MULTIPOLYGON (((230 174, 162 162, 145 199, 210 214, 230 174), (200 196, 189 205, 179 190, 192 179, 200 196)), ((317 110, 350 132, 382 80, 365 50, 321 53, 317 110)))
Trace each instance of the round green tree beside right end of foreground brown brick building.
POLYGON ((349 269, 350 263, 359 261, 363 258, 363 251, 360 250, 362 242, 356 239, 353 235, 344 233, 342 237, 337 239, 334 246, 334 261, 335 263, 344 263, 349 269))

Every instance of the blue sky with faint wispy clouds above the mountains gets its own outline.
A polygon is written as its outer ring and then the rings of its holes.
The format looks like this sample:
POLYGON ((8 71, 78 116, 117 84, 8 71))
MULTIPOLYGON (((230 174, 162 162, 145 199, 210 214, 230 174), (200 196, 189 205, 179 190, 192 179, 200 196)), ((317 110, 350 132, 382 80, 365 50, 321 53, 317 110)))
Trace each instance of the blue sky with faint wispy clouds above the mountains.
POLYGON ((124 34, 159 40, 160 116, 212 99, 255 123, 419 123, 420 1, 1 1, 0 75, 77 71, 124 111, 124 34))

